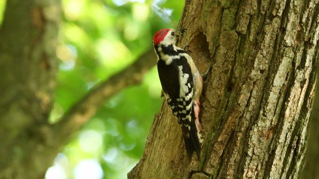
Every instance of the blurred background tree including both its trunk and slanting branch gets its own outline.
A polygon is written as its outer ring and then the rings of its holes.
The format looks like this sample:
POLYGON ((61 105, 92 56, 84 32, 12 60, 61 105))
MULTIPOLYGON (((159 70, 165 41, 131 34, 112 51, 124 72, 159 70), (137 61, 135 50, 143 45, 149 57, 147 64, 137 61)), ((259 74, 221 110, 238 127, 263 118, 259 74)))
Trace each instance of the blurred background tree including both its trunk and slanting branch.
POLYGON ((68 141, 118 91, 139 84, 154 50, 48 123, 58 60, 60 0, 7 0, 0 29, 0 179, 43 179, 68 141), (132 75, 133 74, 133 75, 132 75))

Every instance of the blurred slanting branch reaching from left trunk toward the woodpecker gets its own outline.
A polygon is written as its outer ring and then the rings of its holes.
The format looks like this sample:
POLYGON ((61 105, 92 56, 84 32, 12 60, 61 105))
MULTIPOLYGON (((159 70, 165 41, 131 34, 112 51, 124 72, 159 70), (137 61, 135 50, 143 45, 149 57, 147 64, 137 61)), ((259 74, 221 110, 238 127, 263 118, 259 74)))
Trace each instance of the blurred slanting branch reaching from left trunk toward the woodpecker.
POLYGON ((63 119, 53 126, 54 140, 65 143, 68 137, 81 128, 97 109, 101 107, 107 99, 120 90, 140 84, 144 75, 156 65, 156 55, 153 49, 145 54, 118 74, 102 83, 99 87, 91 90, 85 97, 76 103, 66 113, 63 119))

